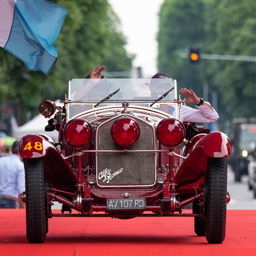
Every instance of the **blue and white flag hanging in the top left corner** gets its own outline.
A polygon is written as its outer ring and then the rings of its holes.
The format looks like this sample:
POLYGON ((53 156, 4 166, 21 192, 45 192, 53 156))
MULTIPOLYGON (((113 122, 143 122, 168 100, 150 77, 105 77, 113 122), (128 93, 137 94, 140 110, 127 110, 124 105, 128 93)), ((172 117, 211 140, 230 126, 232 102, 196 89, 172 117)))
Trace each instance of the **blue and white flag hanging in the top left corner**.
POLYGON ((0 0, 0 47, 47 75, 57 61, 53 42, 66 15, 47 0, 0 0))

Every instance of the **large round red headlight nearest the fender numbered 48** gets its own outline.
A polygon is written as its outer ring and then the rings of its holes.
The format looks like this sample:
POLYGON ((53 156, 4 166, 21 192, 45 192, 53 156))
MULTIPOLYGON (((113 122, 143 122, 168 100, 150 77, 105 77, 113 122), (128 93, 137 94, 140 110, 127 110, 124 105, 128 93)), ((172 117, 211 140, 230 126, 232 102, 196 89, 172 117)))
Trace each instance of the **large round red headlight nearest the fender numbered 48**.
POLYGON ((93 128, 84 119, 73 119, 67 123, 64 136, 70 145, 81 148, 90 142, 93 137, 93 128))

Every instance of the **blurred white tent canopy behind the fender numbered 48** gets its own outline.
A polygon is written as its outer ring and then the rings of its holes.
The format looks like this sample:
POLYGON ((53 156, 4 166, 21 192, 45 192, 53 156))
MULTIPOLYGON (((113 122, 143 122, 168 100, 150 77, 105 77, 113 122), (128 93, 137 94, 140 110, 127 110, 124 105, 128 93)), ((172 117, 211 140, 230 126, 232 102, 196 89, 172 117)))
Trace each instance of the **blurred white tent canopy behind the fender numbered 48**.
MULTIPOLYGON (((60 100, 56 100, 56 106, 63 106, 63 104, 59 103, 60 100)), ((20 140, 23 136, 27 134, 46 134, 47 136, 51 137, 54 142, 58 142, 58 131, 44 131, 44 127, 48 125, 49 118, 45 118, 41 114, 38 114, 29 122, 22 126, 17 126, 16 120, 12 119, 12 136, 15 137, 17 140, 20 140)))

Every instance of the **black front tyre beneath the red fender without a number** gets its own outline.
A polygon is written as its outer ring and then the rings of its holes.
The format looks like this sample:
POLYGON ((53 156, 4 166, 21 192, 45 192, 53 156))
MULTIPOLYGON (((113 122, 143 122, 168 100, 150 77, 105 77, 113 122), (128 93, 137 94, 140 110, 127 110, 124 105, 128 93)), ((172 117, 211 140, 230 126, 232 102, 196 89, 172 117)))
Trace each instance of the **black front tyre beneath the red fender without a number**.
POLYGON ((227 158, 208 157, 206 180, 206 231, 211 244, 221 244, 226 234, 227 158))

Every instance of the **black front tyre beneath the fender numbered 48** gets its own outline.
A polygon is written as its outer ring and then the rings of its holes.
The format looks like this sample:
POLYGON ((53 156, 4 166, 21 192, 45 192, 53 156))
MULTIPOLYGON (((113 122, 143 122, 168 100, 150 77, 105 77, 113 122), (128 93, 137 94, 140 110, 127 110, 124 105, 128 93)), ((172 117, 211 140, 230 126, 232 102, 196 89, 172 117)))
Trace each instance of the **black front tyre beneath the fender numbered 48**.
POLYGON ((44 158, 24 159, 26 184, 26 237, 30 243, 43 243, 48 229, 44 158))

